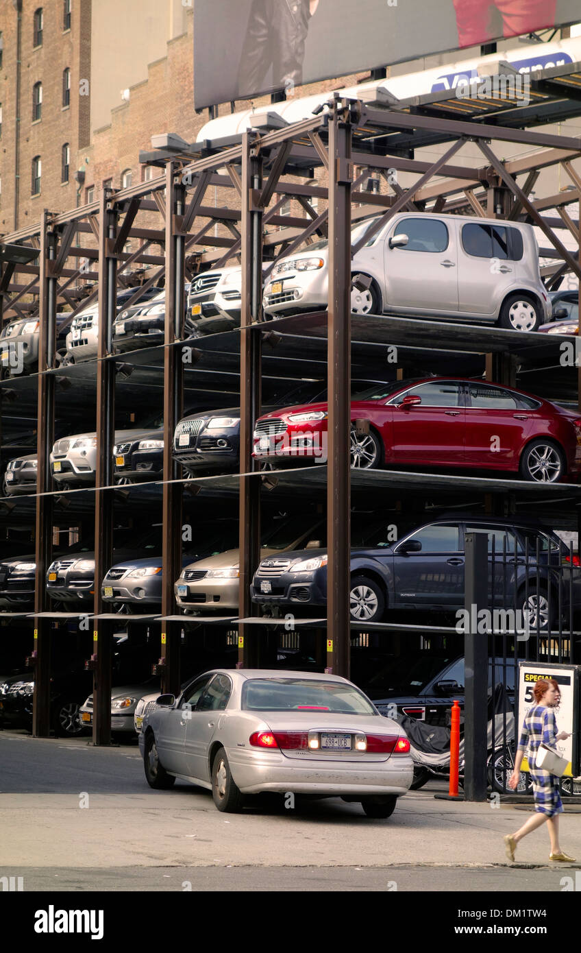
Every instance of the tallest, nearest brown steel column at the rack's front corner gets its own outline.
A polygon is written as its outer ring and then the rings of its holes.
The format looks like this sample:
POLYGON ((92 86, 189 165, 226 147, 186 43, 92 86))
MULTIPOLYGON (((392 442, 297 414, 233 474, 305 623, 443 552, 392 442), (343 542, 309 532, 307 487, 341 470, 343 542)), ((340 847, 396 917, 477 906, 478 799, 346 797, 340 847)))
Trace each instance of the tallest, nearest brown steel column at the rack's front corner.
POLYGON ((327 669, 349 678, 351 566, 351 123, 329 121, 327 669))

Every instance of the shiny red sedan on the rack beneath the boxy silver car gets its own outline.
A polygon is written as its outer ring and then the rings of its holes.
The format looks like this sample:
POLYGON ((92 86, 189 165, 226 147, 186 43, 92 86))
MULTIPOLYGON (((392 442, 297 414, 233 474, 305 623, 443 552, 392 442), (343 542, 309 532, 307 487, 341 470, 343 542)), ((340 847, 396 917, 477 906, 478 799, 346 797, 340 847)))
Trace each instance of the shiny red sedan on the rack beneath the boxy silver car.
MULTIPOLYGON (((351 400, 351 423, 354 468, 466 467, 543 483, 575 478, 581 470, 579 414, 484 380, 428 377, 377 385, 351 400), (369 421, 369 434, 356 420, 369 421)), ((259 417, 253 456, 324 463, 327 403, 259 417)))

